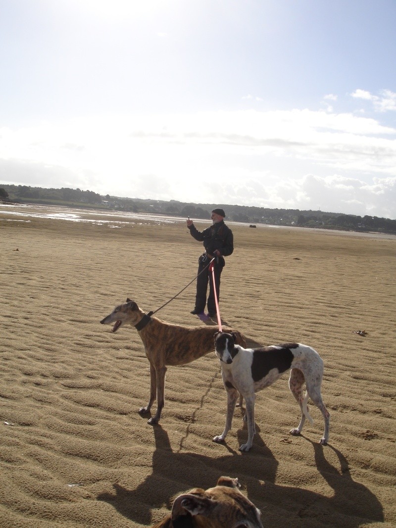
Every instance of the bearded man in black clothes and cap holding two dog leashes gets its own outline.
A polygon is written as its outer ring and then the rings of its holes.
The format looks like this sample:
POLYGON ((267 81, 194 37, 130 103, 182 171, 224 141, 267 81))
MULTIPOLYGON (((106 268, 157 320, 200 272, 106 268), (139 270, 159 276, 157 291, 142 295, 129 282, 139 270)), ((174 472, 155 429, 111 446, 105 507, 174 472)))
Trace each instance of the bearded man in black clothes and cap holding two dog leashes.
POLYGON ((216 304, 214 300, 212 272, 209 272, 209 262, 215 257, 214 281, 216 285, 216 295, 220 299, 220 275, 225 266, 224 257, 230 255, 234 250, 234 238, 231 229, 224 223, 225 213, 223 209, 213 209, 211 214, 212 225, 204 231, 198 231, 190 218, 187 220, 187 227, 191 236, 203 242, 205 252, 198 260, 198 277, 196 279, 195 307, 193 315, 203 314, 206 305, 206 292, 208 291, 208 315, 216 314, 216 304), (205 269, 206 268, 206 269, 205 269))

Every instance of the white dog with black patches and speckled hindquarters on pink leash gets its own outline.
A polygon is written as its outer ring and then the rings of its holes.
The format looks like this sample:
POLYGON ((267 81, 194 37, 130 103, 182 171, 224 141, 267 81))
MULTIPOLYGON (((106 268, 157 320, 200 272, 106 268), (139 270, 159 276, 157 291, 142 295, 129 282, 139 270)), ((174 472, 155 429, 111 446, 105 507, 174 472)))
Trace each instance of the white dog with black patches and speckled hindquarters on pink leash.
POLYGON ((309 416, 307 401, 310 398, 322 412, 325 429, 320 444, 327 444, 330 414, 322 401, 320 388, 323 380, 323 360, 310 346, 299 343, 271 345, 264 348, 243 348, 235 344, 232 333, 218 332, 215 335, 215 351, 221 364, 224 388, 227 391, 227 418, 221 435, 213 438, 222 442, 231 429, 232 417, 237 402, 238 392, 246 400, 248 421, 248 441, 240 446, 240 451, 249 451, 252 447, 254 429, 255 393, 271 385, 280 376, 290 370, 289 388, 298 401, 301 409, 301 421, 298 427, 291 429, 291 435, 299 435, 305 419, 309 416), (303 386, 306 394, 303 396, 303 386))

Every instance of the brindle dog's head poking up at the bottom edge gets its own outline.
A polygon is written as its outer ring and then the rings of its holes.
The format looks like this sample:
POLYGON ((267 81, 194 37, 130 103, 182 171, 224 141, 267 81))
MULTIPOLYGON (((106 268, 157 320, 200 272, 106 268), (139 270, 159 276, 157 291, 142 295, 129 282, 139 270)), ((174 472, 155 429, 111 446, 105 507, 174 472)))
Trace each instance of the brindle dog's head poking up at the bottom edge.
POLYGON ((153 528, 263 528, 260 511, 239 488, 237 478, 220 477, 214 488, 183 493, 153 528))

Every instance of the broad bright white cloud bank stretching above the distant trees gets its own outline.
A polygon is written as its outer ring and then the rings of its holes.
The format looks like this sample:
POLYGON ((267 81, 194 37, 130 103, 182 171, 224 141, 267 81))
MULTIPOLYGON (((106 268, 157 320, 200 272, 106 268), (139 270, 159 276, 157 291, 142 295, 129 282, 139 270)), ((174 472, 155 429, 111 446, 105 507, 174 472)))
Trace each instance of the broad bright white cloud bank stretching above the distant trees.
POLYGON ((350 113, 98 116, 0 130, 3 182, 105 195, 396 218, 395 175, 396 130, 350 113))

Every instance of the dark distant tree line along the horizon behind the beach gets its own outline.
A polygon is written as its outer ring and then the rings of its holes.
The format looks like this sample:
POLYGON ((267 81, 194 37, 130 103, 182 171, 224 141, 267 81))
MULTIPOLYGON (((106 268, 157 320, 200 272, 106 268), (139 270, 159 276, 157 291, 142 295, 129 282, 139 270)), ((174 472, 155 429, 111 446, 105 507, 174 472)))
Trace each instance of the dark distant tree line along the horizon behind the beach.
POLYGON ((227 214, 227 220, 234 222, 396 234, 396 220, 379 218, 378 216, 365 215, 362 217, 353 214, 310 210, 300 211, 298 209, 269 209, 246 205, 197 204, 178 202, 176 200, 121 198, 68 187, 59 189, 30 187, 28 185, 2 185, 0 188, 0 200, 15 203, 72 205, 125 212, 150 212, 181 216, 183 218, 190 216, 190 218, 203 220, 210 219, 211 211, 214 208, 222 207, 227 214))

